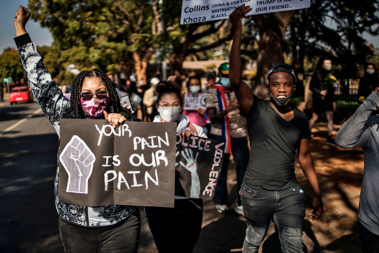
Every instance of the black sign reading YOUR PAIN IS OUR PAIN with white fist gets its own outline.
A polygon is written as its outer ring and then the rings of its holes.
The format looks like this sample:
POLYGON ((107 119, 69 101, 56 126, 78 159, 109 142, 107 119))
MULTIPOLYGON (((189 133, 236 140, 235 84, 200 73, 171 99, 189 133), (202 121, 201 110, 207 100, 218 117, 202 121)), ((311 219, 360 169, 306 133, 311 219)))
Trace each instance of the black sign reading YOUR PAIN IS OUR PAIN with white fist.
POLYGON ((174 207, 176 123, 61 119, 60 129, 61 202, 174 207))

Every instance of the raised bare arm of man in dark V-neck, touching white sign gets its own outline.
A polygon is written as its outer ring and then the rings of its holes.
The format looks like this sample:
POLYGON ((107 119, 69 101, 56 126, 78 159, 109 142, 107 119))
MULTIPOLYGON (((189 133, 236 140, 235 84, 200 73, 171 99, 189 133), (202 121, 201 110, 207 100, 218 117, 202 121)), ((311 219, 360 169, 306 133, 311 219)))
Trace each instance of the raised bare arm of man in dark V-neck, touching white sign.
POLYGON ((230 50, 230 65, 229 65, 229 80, 233 86, 233 90, 236 94, 238 104, 243 112, 249 112, 253 104, 253 94, 242 80, 242 66, 241 66, 241 32, 242 32, 242 19, 249 19, 245 16, 251 11, 250 6, 241 5, 230 14, 230 22, 233 26, 233 43, 230 50))

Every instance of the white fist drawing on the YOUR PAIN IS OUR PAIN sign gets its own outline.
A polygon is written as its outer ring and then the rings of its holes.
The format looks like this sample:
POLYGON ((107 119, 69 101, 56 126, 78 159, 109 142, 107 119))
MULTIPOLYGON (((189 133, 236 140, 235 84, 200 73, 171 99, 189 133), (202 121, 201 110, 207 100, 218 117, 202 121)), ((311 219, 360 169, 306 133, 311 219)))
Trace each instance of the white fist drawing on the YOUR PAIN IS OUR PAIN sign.
POLYGON ((96 158, 86 143, 74 135, 59 159, 69 175, 66 192, 88 193, 88 179, 96 158))

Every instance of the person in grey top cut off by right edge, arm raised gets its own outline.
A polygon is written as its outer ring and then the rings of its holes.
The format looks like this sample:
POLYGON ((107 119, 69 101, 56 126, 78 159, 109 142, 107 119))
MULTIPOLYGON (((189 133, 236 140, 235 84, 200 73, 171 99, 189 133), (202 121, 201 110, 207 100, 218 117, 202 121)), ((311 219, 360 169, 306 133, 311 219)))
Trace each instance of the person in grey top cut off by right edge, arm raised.
MULTIPOLYGON (((376 84, 379 85, 379 84, 376 84)), ((379 87, 367 97, 338 131, 335 143, 341 148, 362 147, 364 170, 359 198, 359 239, 362 252, 379 252, 379 87)))

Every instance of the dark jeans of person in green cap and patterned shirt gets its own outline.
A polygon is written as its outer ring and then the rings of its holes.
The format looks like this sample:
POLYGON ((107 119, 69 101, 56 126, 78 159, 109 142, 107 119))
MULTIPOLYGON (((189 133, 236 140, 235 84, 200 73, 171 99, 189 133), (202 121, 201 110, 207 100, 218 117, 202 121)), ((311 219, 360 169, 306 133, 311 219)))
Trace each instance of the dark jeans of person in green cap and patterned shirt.
MULTIPOLYGON (((221 136, 209 134, 208 138, 213 140, 221 140, 221 136)), ((245 175, 247 163, 249 162, 249 146, 247 146, 247 138, 231 138, 232 153, 237 173, 237 195, 238 204, 241 204, 241 196, 239 194, 243 176, 245 175)), ((228 190, 227 190, 227 175, 229 167, 230 154, 224 155, 224 161, 222 163, 221 173, 217 181, 215 197, 213 201, 220 205, 226 205, 228 203, 228 190)))

